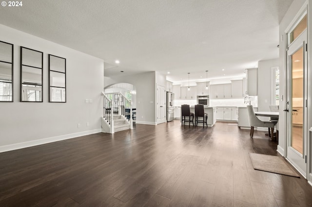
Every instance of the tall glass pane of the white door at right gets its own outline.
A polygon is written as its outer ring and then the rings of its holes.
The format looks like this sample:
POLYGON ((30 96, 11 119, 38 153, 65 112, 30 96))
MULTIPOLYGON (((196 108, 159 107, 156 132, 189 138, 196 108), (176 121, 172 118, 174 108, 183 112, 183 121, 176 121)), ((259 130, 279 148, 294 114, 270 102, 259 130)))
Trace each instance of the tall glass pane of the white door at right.
POLYGON ((303 46, 291 55, 292 72, 292 112, 291 120, 291 147, 300 154, 303 154, 303 106, 304 106, 304 58, 303 46))

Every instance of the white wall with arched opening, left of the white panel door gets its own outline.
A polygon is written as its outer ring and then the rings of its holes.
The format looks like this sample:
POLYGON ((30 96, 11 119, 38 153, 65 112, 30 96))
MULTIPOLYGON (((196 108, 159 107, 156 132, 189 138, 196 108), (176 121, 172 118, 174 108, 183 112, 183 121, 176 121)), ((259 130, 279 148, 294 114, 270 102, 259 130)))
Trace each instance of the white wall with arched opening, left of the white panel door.
MULTIPOLYGON (((105 73, 105 72, 104 72, 105 73)), ((156 124, 156 75, 155 71, 135 75, 104 77, 104 87, 117 83, 129 83, 137 89, 137 120, 136 123, 156 124)), ((165 85, 166 86, 166 85, 165 85)))

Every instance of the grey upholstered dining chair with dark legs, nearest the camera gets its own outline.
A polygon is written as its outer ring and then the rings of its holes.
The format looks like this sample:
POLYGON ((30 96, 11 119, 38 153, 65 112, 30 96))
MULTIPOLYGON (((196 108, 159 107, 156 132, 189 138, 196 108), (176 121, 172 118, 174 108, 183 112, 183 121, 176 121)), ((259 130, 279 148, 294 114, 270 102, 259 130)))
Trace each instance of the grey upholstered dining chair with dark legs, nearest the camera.
POLYGON ((254 113, 254 106, 253 105, 247 105, 247 111, 248 111, 248 117, 249 117, 249 124, 251 126, 250 136, 254 137, 254 127, 268 127, 269 128, 269 135, 270 135, 270 129, 271 129, 271 135, 273 138, 273 132, 274 132, 274 125, 275 124, 271 121, 259 120, 254 113))

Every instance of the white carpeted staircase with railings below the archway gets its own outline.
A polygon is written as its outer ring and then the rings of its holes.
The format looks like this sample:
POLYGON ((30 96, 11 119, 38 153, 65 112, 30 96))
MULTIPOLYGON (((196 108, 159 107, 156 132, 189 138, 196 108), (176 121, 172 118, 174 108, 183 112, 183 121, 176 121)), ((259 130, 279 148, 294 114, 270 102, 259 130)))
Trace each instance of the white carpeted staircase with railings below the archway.
POLYGON ((104 97, 104 116, 101 117, 101 129, 103 133, 132 129, 132 101, 123 94, 102 92, 104 97))

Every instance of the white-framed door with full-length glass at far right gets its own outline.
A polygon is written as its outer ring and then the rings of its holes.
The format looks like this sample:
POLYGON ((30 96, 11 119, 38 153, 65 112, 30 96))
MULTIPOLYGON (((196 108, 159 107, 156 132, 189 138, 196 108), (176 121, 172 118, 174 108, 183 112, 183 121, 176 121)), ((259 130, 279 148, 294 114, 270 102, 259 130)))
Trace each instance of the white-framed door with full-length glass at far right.
POLYGON ((296 37, 287 51, 287 158, 307 174, 307 30, 296 37))

